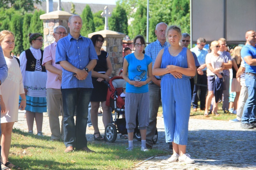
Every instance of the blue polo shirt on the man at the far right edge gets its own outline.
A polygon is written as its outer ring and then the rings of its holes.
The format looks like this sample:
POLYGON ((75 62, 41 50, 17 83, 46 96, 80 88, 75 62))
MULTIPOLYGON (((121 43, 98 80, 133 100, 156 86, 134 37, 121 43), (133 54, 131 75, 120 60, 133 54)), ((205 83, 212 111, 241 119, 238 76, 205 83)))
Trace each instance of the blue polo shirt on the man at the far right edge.
MULTIPOLYGON (((241 56, 244 58, 246 56, 252 56, 252 58, 256 58, 256 47, 251 45, 245 45, 241 50, 241 56)), ((245 72, 256 73, 256 66, 250 66, 245 61, 245 72)))

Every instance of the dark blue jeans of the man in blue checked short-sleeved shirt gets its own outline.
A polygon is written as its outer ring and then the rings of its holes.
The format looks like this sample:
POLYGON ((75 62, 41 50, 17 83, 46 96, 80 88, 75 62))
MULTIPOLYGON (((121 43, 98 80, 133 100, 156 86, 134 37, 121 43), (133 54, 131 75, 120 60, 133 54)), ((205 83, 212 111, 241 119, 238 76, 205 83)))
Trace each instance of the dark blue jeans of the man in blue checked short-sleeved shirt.
POLYGON ((86 125, 92 88, 61 89, 64 111, 64 144, 76 150, 87 147, 86 125), (76 121, 74 113, 76 109, 76 121))

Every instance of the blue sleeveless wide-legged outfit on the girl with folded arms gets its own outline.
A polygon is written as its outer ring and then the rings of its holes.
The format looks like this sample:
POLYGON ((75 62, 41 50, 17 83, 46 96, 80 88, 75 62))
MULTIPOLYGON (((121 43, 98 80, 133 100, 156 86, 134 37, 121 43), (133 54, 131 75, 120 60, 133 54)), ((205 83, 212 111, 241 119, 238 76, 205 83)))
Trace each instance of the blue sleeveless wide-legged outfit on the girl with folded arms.
MULTIPOLYGON (((177 56, 172 56, 168 48, 162 55, 161 68, 175 65, 187 68, 187 48, 183 48, 177 56)), ((168 73, 161 76, 161 97, 163 120, 165 123, 166 142, 187 145, 188 121, 191 106, 190 77, 183 75, 176 79, 168 73)))

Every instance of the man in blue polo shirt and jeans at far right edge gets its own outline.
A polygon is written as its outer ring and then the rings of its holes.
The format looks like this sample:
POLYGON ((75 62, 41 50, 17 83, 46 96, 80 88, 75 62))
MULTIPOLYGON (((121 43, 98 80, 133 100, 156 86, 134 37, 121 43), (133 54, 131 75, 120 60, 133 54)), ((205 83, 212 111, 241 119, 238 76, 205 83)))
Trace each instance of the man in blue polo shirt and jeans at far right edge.
POLYGON ((249 30, 245 33, 246 45, 241 50, 245 61, 245 84, 248 87, 248 98, 244 106, 241 128, 256 127, 256 33, 249 30))

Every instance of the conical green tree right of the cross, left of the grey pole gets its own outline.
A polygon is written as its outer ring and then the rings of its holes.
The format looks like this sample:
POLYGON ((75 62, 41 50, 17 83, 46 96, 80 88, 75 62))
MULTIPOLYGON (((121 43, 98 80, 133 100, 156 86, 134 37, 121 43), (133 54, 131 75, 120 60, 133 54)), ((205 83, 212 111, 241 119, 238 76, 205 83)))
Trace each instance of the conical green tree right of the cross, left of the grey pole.
POLYGON ((146 38, 147 8, 140 4, 133 18, 134 20, 131 22, 131 25, 128 26, 129 33, 132 35, 142 35, 146 38))

